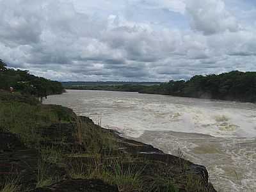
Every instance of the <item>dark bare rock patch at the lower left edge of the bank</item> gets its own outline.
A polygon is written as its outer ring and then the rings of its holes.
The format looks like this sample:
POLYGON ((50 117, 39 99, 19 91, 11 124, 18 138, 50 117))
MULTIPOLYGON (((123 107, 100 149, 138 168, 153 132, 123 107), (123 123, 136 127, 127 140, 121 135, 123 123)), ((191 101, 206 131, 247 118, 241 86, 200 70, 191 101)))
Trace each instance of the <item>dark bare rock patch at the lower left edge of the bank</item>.
POLYGON ((22 184, 35 187, 38 151, 25 147, 20 138, 10 132, 0 132, 0 186, 9 177, 19 175, 22 184))

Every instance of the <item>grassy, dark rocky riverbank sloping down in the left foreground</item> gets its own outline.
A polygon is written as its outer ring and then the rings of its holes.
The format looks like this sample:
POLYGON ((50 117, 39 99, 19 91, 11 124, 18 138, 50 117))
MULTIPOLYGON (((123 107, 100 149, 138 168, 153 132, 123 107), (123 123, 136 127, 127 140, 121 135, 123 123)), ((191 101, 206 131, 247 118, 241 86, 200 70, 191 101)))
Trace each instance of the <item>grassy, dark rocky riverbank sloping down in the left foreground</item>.
POLYGON ((4 94, 2 190, 215 191, 204 166, 122 138, 71 109, 4 94))

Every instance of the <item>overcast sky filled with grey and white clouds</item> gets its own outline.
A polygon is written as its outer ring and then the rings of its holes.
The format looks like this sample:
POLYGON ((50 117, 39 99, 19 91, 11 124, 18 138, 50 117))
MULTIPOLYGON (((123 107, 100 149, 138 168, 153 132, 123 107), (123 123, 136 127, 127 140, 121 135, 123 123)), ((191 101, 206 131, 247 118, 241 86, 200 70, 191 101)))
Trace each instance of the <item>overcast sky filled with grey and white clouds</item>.
POLYGON ((256 1, 0 0, 0 58, 58 81, 256 71, 256 1))

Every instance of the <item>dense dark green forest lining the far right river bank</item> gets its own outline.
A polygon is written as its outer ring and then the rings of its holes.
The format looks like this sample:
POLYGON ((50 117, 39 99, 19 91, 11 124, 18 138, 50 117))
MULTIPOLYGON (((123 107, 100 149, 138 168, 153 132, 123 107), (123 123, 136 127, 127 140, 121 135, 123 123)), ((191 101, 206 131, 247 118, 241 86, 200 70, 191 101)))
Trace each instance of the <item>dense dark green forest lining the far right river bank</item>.
POLYGON ((256 102, 256 72, 232 71, 220 75, 194 76, 188 81, 169 81, 152 86, 140 84, 68 86, 67 89, 109 90, 256 102))

